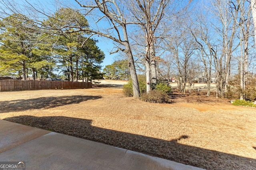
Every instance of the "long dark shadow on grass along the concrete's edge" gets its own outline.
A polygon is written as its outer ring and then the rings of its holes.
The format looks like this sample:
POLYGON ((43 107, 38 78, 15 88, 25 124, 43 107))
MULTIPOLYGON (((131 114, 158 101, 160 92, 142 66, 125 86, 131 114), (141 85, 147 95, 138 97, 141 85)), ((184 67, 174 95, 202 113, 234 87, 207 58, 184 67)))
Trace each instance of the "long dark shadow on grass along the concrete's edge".
POLYGON ((180 144, 179 141, 181 139, 186 140, 189 138, 187 135, 182 135, 180 138, 172 141, 165 141, 142 135, 94 127, 91 125, 92 120, 73 117, 34 117, 23 115, 9 117, 5 120, 105 143, 115 147, 134 150, 136 152, 142 152, 208 170, 256 169, 256 160, 252 158, 180 144))

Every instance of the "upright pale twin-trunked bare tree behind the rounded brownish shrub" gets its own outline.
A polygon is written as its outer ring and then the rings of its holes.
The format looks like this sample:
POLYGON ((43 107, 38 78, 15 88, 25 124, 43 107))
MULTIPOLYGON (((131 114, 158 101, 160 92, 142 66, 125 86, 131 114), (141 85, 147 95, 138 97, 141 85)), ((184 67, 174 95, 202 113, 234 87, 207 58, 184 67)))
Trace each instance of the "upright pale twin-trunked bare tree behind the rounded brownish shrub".
POLYGON ((149 92, 150 84, 156 83, 157 79, 156 30, 168 10, 169 0, 125 0, 125 2, 133 23, 139 25, 144 33, 146 91, 149 92))

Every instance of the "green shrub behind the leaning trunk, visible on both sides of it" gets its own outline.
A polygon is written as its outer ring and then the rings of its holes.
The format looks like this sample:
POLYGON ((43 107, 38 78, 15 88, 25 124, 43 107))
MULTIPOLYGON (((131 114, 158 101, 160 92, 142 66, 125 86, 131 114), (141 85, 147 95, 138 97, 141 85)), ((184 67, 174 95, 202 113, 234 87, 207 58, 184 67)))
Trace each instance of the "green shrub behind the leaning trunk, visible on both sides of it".
MULTIPOLYGON (((140 87, 140 93, 146 92, 146 76, 138 75, 138 83, 140 87)), ((123 94, 127 97, 133 96, 133 89, 132 89, 132 80, 129 80, 127 84, 124 84, 123 94)))

